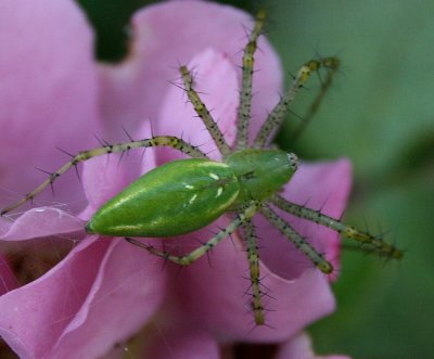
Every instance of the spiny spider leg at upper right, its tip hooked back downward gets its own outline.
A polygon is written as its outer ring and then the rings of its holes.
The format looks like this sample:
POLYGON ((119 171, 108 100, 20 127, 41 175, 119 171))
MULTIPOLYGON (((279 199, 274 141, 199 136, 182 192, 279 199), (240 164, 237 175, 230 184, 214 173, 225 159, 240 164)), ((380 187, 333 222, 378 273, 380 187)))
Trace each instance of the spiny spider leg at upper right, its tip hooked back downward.
MULTIPOLYGON (((330 68, 330 74, 333 75, 336 69, 339 68, 340 61, 336 57, 326 57, 320 60, 310 60, 309 62, 305 63, 297 72, 297 75, 294 77, 294 80, 291 87, 288 89, 286 93, 280 99, 278 104, 268 115, 267 119, 260 127, 259 132, 256 134, 254 140, 254 148, 255 149, 264 149, 267 146, 270 134, 277 128, 282 125, 284 119, 284 115, 288 112, 291 103, 293 102, 295 94, 299 91, 304 84, 308 80, 312 72, 319 70, 321 67, 330 68)), ((331 77, 330 77, 331 81, 331 77)), ((326 88, 327 89, 327 88, 326 88)), ((316 102, 320 102, 323 98, 323 92, 326 90, 323 87, 321 88, 320 95, 316 100, 316 102), (322 95, 321 95, 322 93, 322 95)), ((318 106, 317 104, 317 106, 318 106)))

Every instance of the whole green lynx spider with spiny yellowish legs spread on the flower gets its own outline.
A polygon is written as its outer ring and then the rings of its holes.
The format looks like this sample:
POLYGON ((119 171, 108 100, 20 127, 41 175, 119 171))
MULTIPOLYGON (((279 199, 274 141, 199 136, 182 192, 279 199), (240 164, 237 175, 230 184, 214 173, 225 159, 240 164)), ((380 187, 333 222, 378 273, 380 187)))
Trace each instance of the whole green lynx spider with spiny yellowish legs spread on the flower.
POLYGON ((306 255, 323 273, 333 271, 332 265, 324 259, 291 225, 279 217, 272 207, 328 227, 348 239, 358 241, 363 249, 381 256, 400 258, 403 253, 383 242, 382 236, 357 230, 303 205, 281 197, 279 190, 290 181, 297 169, 297 157, 280 150, 267 149, 273 131, 281 125, 289 106, 297 91, 309 76, 318 69, 326 68, 328 77, 314 102, 314 113, 330 86, 332 75, 339 67, 339 60, 327 57, 311 60, 304 64, 294 76, 293 82, 263 124, 260 130, 250 145, 247 136, 251 118, 252 80, 254 73, 254 53, 257 39, 261 33, 265 13, 259 12, 255 26, 251 31, 248 43, 242 60, 242 88, 238 113, 237 140, 231 149, 216 121, 213 119, 200 95, 193 89, 193 78, 187 66, 180 67, 183 88, 199 117, 210 133, 222 162, 210 161, 197 146, 181 138, 157 136, 144 140, 106 144, 89 151, 79 152, 68 163, 59 168, 34 191, 21 201, 3 208, 1 216, 15 209, 51 185, 54 180, 69 168, 87 159, 110 154, 123 153, 132 149, 168 146, 189 155, 190 159, 179 159, 159 166, 132 182, 127 189, 104 204, 86 225, 88 233, 123 236, 128 242, 166 260, 188 266, 201 258, 221 240, 239 228, 243 229, 246 243, 250 279, 252 287, 251 308, 256 324, 265 323, 263 306, 264 292, 259 283, 259 251, 255 227, 252 222, 256 214, 260 214, 272 223, 288 240, 306 255), (150 209, 148 203, 165 204, 165 209, 150 209), (168 204, 170 204, 168 206, 168 204), (138 207, 139 206, 139 207, 138 207), (170 207, 171 209, 167 209, 170 207), (206 227, 225 213, 233 214, 232 222, 215 234, 208 242, 183 256, 175 256, 166 251, 158 251, 152 245, 139 242, 130 236, 173 236, 192 232, 206 227))

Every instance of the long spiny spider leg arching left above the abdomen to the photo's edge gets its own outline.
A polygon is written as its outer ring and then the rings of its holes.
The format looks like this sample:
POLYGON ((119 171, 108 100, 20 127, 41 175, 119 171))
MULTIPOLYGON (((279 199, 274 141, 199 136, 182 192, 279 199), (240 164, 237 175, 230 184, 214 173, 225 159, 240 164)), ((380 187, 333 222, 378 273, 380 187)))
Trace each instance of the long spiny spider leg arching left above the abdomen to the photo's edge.
POLYGON ((61 168, 55 170, 50 175, 48 179, 46 179, 41 184, 39 184, 35 190, 27 193, 22 200, 4 207, 0 211, 0 216, 8 214, 9 211, 20 207, 24 203, 31 201, 37 196, 40 192, 42 192, 47 187, 51 185, 61 175, 66 172, 71 167, 77 166, 79 163, 88 161, 93 157, 111 154, 111 153, 119 153, 126 152, 132 149, 145 149, 145 148, 155 148, 155 146, 169 146, 177 151, 180 151, 193 158, 208 158, 205 153, 199 150, 196 146, 186 142, 182 139, 173 136, 156 136, 151 139, 130 141, 117 144, 107 144, 102 148, 97 148, 93 150, 87 150, 78 152, 69 162, 64 164, 61 168))

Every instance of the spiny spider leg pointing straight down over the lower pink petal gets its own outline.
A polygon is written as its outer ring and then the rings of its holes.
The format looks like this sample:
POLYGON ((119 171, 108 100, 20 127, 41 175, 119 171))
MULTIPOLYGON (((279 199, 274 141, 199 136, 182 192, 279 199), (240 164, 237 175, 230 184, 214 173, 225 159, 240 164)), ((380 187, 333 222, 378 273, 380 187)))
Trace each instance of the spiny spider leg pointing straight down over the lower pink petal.
POLYGON ((255 323, 263 325, 265 323, 263 291, 260 290, 259 273, 259 248, 257 245, 257 235, 255 227, 251 220, 243 223, 245 242, 247 244, 247 260, 252 283, 252 309, 255 315, 255 323))

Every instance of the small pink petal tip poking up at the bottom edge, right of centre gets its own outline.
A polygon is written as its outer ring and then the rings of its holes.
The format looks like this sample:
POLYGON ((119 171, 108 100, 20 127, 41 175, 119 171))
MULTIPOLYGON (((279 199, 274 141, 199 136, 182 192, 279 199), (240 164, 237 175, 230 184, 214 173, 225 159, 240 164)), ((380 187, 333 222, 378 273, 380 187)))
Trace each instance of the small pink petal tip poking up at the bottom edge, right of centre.
POLYGON ((336 355, 318 357, 314 354, 309 336, 302 333, 282 344, 276 359, 349 359, 349 357, 336 355))

